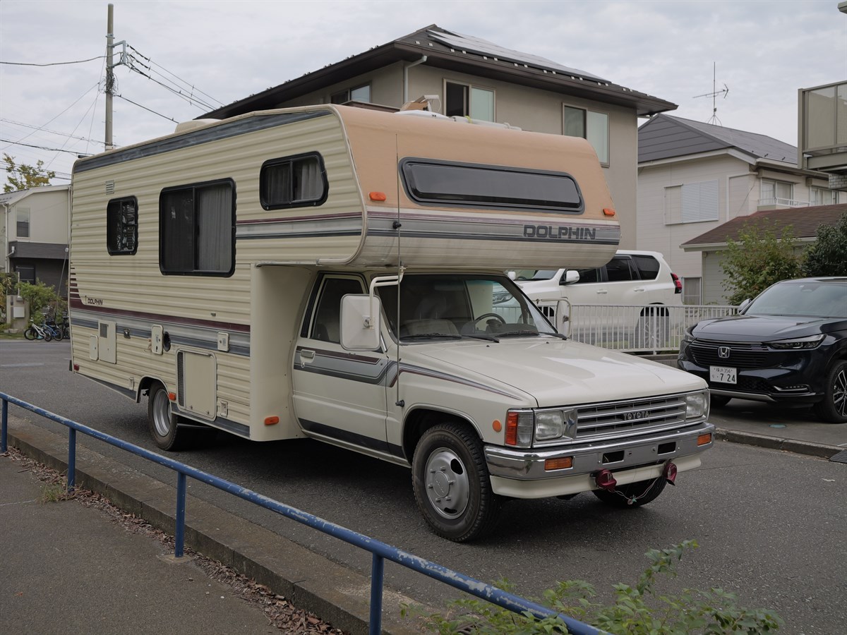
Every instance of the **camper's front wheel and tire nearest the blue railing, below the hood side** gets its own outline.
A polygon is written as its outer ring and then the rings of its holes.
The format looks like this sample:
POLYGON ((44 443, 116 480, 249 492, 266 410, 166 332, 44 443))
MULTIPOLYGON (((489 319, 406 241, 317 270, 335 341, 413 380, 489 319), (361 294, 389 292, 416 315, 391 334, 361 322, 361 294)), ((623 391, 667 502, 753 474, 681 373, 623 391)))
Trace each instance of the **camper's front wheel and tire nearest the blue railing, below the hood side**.
POLYGON ((482 444, 466 426, 442 423, 424 433, 412 458, 412 488, 442 538, 463 543, 495 527, 502 501, 491 491, 482 444))

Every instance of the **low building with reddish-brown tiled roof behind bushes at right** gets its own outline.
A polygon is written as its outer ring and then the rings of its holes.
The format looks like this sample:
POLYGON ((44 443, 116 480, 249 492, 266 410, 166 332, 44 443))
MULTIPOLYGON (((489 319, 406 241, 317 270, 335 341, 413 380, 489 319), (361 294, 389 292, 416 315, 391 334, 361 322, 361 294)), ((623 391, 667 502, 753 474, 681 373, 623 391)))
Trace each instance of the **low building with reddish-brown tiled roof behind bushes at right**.
POLYGON ((702 303, 726 304, 729 293, 723 287, 726 277, 721 263, 729 240, 737 242, 745 225, 759 224, 760 227, 772 229, 778 237, 782 235, 783 229, 790 225, 794 240, 797 241, 794 251, 800 253, 815 242, 818 227, 838 224, 844 213, 847 213, 847 203, 771 209, 733 218, 728 223, 720 224, 704 234, 686 240, 680 247, 702 263, 702 303))

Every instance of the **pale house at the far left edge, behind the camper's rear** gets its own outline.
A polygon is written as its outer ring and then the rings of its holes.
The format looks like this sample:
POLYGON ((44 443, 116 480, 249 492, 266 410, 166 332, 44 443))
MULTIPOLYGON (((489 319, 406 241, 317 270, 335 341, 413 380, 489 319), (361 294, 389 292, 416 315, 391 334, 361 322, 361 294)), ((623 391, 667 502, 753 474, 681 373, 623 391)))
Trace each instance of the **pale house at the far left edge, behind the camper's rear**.
POLYGON ((0 194, 0 272, 67 293, 70 185, 0 194))

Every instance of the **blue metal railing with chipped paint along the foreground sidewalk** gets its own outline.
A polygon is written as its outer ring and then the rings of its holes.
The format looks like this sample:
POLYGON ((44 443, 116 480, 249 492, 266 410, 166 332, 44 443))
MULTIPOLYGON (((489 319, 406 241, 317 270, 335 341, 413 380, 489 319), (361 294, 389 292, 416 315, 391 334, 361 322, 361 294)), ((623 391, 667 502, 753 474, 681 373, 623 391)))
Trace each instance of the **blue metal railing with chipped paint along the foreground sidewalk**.
POLYGON ((207 483, 214 488, 221 489, 224 492, 229 492, 240 499, 248 500, 251 503, 259 505, 270 511, 275 511, 286 518, 291 518, 296 522, 300 522, 307 527, 312 527, 320 532, 328 533, 348 544, 352 544, 359 549, 369 551, 373 555, 371 564, 371 594, 370 594, 370 619, 368 628, 371 635, 379 635, 382 632, 382 592, 383 592, 383 570, 385 560, 396 562, 396 564, 405 566, 407 569, 412 569, 418 573, 423 573, 424 576, 431 577, 441 583, 445 583, 453 588, 457 588, 465 593, 475 595, 480 599, 484 599, 491 604, 500 606, 501 608, 512 610, 515 613, 529 612, 533 616, 543 619, 545 617, 557 616, 567 626, 567 631, 573 635, 604 635, 603 631, 584 624, 581 621, 574 620, 572 617, 556 613, 555 610, 550 610, 545 606, 535 604, 528 599, 523 599, 517 595, 513 595, 503 591, 500 588, 485 584, 473 577, 468 577, 463 573, 448 569, 446 566, 441 566, 435 562, 418 558, 417 555, 412 555, 407 551, 392 547, 390 544, 385 544, 374 538, 368 538, 362 533, 354 532, 346 527, 336 525, 334 522, 325 521, 323 518, 313 516, 305 511, 300 511, 295 507, 285 505, 277 500, 270 499, 267 496, 258 494, 251 489, 242 488, 240 485, 230 483, 230 481, 218 478, 202 472, 194 467, 174 461, 167 456, 161 456, 150 450, 145 450, 138 445, 128 443, 121 439, 117 439, 109 434, 99 432, 94 428, 77 423, 65 417, 60 417, 53 412, 33 406, 26 401, 16 399, 11 395, 6 395, 0 392, 0 400, 2 400, 2 429, 0 429, 0 452, 6 452, 7 446, 7 430, 8 430, 8 404, 12 403, 15 406, 20 406, 26 410, 35 412, 54 422, 61 423, 69 428, 68 436, 68 490, 73 491, 76 483, 76 433, 81 432, 95 439, 100 439, 104 443, 113 445, 121 450, 126 450, 136 456, 141 456, 149 461, 158 463, 161 466, 169 467, 177 473, 176 487, 176 528, 174 532, 174 557, 181 558, 185 551, 185 478, 195 478, 201 483, 207 483))

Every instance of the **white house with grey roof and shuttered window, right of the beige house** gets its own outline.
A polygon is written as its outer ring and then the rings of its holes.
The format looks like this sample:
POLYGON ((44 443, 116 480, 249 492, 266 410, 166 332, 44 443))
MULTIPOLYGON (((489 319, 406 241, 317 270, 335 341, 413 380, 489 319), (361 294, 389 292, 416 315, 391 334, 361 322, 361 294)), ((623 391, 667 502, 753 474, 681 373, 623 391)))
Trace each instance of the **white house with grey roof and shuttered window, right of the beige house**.
POLYGON ((661 251, 687 304, 714 300, 700 255, 680 245, 768 209, 847 202, 797 148, 766 135, 659 114, 639 128, 638 248, 661 251))

